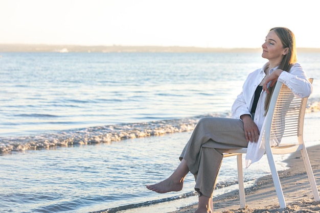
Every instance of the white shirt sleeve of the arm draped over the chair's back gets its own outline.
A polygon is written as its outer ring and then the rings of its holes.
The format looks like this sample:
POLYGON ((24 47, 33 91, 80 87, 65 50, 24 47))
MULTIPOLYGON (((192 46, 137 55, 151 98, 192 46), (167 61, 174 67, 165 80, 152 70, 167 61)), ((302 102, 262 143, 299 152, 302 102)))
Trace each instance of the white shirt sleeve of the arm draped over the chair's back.
POLYGON ((282 72, 278 81, 287 85, 296 97, 306 98, 312 93, 312 85, 299 63, 295 63, 289 72, 282 72))

